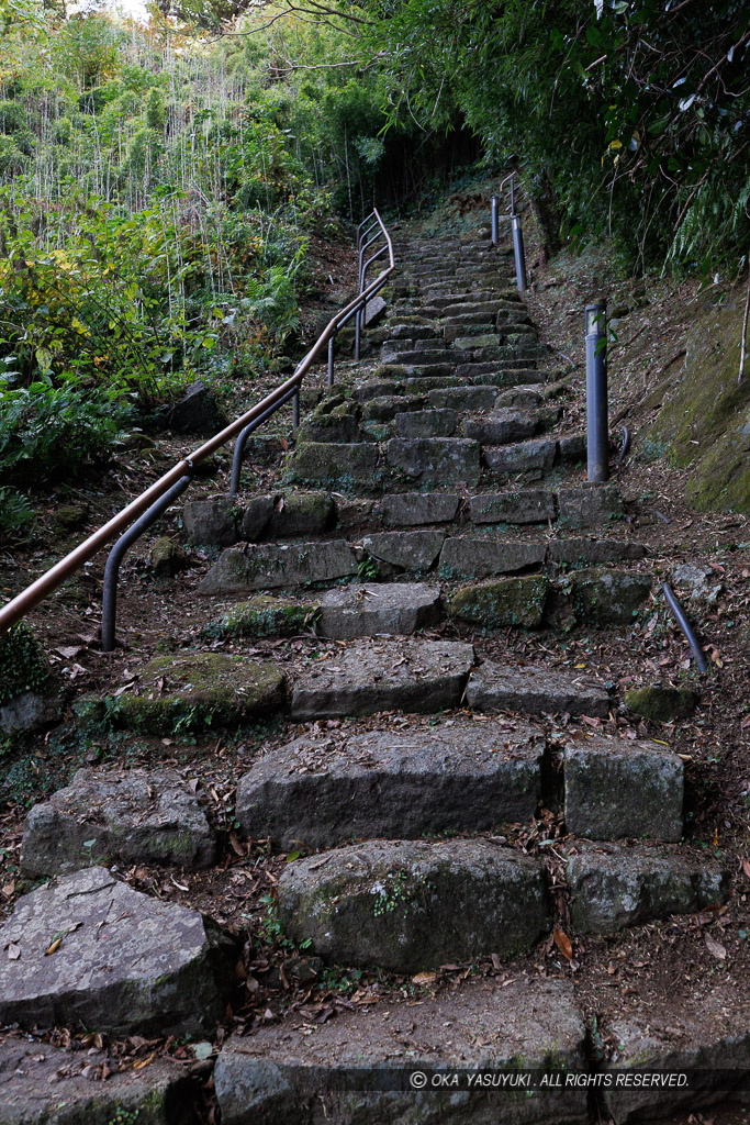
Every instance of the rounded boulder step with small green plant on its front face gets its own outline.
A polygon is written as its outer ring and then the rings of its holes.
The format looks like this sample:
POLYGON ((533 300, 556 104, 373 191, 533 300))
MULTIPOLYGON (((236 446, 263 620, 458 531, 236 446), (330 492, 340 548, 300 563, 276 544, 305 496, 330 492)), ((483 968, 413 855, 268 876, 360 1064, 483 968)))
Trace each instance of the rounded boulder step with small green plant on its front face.
POLYGON ((279 918, 324 961, 398 973, 513 956, 550 928, 541 863, 487 840, 373 840, 297 860, 279 918))

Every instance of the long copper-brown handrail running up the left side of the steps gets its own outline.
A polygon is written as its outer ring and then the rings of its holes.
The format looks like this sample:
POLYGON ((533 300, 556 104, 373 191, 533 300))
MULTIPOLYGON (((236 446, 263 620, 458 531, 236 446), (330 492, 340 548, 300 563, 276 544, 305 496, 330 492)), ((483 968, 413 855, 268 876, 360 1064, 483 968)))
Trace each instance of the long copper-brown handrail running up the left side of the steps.
MULTIPOLYGON (((159 480, 155 480, 153 485, 146 488, 145 492, 141 493, 134 501, 132 501, 126 507, 124 507, 117 515, 112 516, 107 523, 99 528, 92 536, 84 539, 82 543, 79 543, 69 555, 62 558, 53 567, 51 567, 45 574, 40 575, 30 586, 22 590, 20 594, 12 597, 6 605, 0 608, 0 633, 10 629, 17 621, 20 621, 22 616, 29 613, 33 609, 39 605, 49 594, 54 593, 63 584, 63 582, 69 578, 76 570, 80 570, 84 562, 88 562, 90 558, 98 554, 102 547, 112 539, 120 536, 126 531, 130 524, 143 515, 155 504, 160 497, 164 496, 165 493, 170 490, 174 485, 179 484, 183 477, 195 474, 196 468, 217 449, 225 446, 232 438, 236 438, 243 430, 245 430, 251 423, 257 422, 261 416, 263 421, 271 417, 287 400, 289 397, 293 397, 297 408, 299 404, 299 388, 301 387, 302 380, 307 375, 308 370, 313 366, 313 362, 317 358, 318 353, 323 348, 327 346, 328 340, 336 334, 338 326, 343 323, 344 318, 349 318, 359 312, 359 309, 367 305, 370 297, 374 296, 382 286, 386 279, 396 269, 396 262, 394 260, 394 245, 390 235, 377 210, 373 208, 370 215, 364 219, 364 223, 369 223, 370 219, 374 217, 376 223, 381 227, 386 243, 388 246, 388 266, 385 270, 381 270, 377 278, 374 278, 369 286, 358 294, 349 305, 346 305, 340 313, 337 313, 328 324, 325 326, 317 341, 307 353, 305 359, 301 361, 297 370, 286 382, 282 382, 274 390, 272 390, 265 398, 256 403, 249 411, 242 414, 229 425, 225 426, 217 434, 214 434, 208 441, 199 446, 191 453, 184 457, 181 461, 178 461, 169 472, 165 472, 159 480), (292 395, 290 396, 290 392, 292 395), (273 410, 271 410, 273 407, 273 410)), ((358 254, 360 249, 360 230, 358 228, 358 254)))

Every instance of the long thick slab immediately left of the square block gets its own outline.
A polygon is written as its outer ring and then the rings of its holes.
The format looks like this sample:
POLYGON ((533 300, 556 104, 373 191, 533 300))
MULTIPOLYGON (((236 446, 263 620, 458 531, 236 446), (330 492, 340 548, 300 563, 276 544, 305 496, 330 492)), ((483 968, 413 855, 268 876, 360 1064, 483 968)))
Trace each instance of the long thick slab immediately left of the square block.
POLYGON ((543 753, 537 731, 494 719, 353 736, 314 729, 240 780, 236 814, 245 836, 281 848, 525 824, 543 753))

